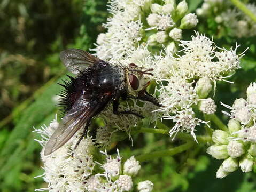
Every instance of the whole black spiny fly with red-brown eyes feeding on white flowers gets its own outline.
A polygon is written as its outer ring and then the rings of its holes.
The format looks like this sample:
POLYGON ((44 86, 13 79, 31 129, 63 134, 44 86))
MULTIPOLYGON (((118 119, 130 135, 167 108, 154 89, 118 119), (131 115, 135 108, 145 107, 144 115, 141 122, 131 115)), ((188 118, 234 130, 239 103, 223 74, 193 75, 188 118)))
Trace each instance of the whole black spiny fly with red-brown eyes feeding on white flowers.
POLYGON ((86 135, 91 119, 108 103, 113 103, 114 114, 132 114, 143 118, 133 110, 119 111, 120 98, 149 101, 161 107, 157 99, 145 90, 149 85, 146 75, 153 75, 150 73, 153 69, 143 71, 134 63, 130 63, 129 67, 114 65, 79 49, 61 52, 60 60, 77 77, 68 76, 70 80, 60 84, 65 88, 60 95, 65 116, 46 144, 44 155, 59 149, 83 127, 76 148, 86 135))

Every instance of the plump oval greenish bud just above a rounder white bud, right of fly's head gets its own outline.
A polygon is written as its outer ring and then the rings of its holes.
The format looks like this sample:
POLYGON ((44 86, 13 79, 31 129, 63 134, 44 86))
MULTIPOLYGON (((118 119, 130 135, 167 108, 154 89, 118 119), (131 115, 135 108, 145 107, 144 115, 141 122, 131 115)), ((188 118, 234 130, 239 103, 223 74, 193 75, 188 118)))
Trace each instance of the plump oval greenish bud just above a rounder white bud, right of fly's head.
POLYGON ((212 84, 207 77, 200 78, 197 82, 196 92, 200 99, 204 99, 212 90, 212 84))

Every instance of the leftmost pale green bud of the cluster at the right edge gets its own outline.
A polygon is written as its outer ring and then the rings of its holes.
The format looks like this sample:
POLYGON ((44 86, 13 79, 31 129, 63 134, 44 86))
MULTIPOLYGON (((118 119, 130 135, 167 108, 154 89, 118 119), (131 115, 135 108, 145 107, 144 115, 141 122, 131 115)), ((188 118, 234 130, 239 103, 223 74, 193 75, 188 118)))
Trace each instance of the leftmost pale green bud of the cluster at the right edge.
POLYGON ((226 159, 228 155, 226 145, 213 145, 207 148, 206 152, 216 159, 226 159))

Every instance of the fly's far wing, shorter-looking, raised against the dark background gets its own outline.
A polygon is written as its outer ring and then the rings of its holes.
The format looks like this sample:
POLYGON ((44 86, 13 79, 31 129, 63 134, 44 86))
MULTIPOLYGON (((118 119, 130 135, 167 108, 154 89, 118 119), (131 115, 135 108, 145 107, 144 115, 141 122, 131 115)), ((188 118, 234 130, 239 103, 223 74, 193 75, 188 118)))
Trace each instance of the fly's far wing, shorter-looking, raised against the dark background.
POLYGON ((67 49, 61 51, 59 57, 67 69, 74 74, 78 74, 79 71, 83 71, 87 67, 94 65, 96 62, 103 61, 80 49, 67 49))

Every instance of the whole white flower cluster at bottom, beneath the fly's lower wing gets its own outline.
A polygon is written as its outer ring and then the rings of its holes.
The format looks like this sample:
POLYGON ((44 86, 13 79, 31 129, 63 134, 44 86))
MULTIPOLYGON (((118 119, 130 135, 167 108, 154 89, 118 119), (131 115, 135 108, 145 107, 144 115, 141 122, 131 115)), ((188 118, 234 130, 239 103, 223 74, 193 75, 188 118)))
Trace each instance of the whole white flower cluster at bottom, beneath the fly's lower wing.
MULTIPOLYGON (((134 189, 133 177, 141 169, 135 157, 130 157, 122 164, 119 150, 118 156, 114 158, 103 151, 97 153, 90 137, 82 139, 79 146, 74 149, 80 137, 77 133, 63 147, 51 155, 44 156, 45 145, 58 126, 56 117, 49 126, 44 125, 41 129, 35 129, 35 132, 41 135, 41 140, 37 141, 43 147, 41 158, 44 174, 38 177, 43 177, 48 183, 47 188, 36 191, 124 192, 134 189), (96 156, 105 156, 105 159, 99 163, 95 161, 96 156)), ((138 191, 150 192, 152 189, 151 181, 137 183, 138 191)))

